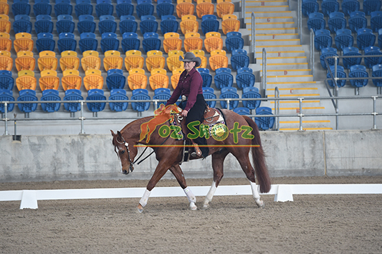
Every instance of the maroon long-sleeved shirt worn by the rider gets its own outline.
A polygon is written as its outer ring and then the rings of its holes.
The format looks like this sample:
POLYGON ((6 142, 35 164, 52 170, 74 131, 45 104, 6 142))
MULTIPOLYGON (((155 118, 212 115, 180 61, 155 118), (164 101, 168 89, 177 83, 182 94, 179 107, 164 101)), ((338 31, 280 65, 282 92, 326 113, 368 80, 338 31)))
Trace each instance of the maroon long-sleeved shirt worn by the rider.
POLYGON ((166 106, 169 104, 174 104, 178 100, 179 96, 185 95, 188 97, 185 110, 190 111, 192 106, 194 106, 197 101, 197 95, 203 94, 202 86, 203 79, 201 78, 201 74, 195 68, 193 68, 188 74, 187 70, 184 70, 181 77, 179 77, 178 85, 167 101, 166 106))

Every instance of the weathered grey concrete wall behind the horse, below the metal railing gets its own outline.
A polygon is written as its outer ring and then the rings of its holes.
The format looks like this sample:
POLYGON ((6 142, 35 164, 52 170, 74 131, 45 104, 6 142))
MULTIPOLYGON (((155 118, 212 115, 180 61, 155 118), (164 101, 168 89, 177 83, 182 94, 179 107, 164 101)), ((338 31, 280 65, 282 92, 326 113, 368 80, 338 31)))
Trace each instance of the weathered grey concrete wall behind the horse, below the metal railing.
MULTIPOLYGON (((272 177, 382 175, 382 130, 261 132, 261 138, 272 177)), ((0 182, 148 179, 156 165, 152 155, 122 175, 111 135, 0 136, 0 182)), ((181 167, 186 177, 212 177, 211 157, 181 167)), ((226 177, 244 177, 231 155, 224 168, 226 177)))

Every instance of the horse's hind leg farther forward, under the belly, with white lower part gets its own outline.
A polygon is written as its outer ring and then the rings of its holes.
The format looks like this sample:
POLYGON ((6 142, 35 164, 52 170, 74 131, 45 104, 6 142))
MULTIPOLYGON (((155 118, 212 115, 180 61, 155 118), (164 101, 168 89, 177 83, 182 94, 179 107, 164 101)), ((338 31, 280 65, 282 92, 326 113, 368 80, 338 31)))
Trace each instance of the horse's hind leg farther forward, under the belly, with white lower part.
POLYGON ((211 185, 211 189, 208 191, 207 196, 204 199, 203 209, 207 209, 209 207, 209 203, 211 202, 213 195, 215 194, 217 186, 220 184, 220 181, 223 178, 223 164, 225 157, 227 157, 227 154, 229 154, 227 150, 223 150, 222 152, 216 152, 212 154, 213 182, 211 185))

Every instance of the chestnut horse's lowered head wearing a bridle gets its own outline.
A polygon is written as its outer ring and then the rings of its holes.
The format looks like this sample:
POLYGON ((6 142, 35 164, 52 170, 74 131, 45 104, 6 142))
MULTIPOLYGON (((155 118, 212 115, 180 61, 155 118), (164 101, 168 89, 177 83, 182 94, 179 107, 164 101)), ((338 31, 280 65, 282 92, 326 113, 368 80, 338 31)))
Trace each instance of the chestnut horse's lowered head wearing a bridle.
POLYGON ((129 142, 129 140, 125 140, 121 132, 118 131, 116 134, 112 130, 110 130, 110 132, 112 132, 113 135, 114 152, 116 152, 121 160, 122 173, 128 175, 128 173, 134 170, 133 161, 138 152, 137 148, 132 141, 129 142))

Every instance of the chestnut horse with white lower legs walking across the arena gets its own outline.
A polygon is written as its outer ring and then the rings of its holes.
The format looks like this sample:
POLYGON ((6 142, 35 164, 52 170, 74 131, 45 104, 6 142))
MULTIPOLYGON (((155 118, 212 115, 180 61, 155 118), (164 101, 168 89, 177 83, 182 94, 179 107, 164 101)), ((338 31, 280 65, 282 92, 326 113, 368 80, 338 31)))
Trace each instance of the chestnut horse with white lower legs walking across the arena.
MULTIPOLYGON (((174 111, 174 109, 172 109, 174 111)), ((155 184, 165 175, 167 170, 176 177, 178 183, 185 191, 185 195, 190 201, 190 209, 197 209, 196 198, 192 191, 188 188, 185 177, 179 164, 183 159, 183 141, 173 138, 171 135, 165 136, 163 131, 160 132, 160 127, 163 125, 170 126, 171 118, 169 111, 165 113, 162 107, 155 112, 156 116, 148 116, 138 120, 134 120, 126 125, 121 132, 116 134, 111 130, 113 136, 114 151, 119 156, 122 164, 122 173, 127 175, 134 170, 133 164, 137 156, 138 144, 152 147, 155 152, 155 157, 159 161, 151 180, 146 186, 144 196, 139 201, 138 211, 143 212, 143 207, 146 206, 148 197, 155 184), (159 112, 159 113, 158 113, 159 112), (150 126, 155 118, 155 126, 150 126)), ((178 111, 176 111, 178 113, 178 111)), ((252 196, 258 207, 263 207, 263 201, 260 199, 259 191, 257 190, 255 175, 257 177, 260 192, 267 193, 270 191, 270 177, 266 167, 263 148, 261 148, 261 140, 259 129, 256 123, 247 116, 240 116, 234 111, 226 109, 222 110, 226 120, 226 126, 229 134, 225 135, 224 140, 217 141, 217 138, 208 138, 209 154, 212 156, 213 165, 213 184, 208 191, 204 200, 204 209, 208 208, 208 203, 211 202, 217 186, 223 177, 223 162, 227 154, 231 153, 238 160, 247 179, 250 180, 252 196), (252 148, 252 149, 251 149, 252 148), (249 153, 252 154, 254 168, 250 163, 249 153)), ((162 129, 169 129, 166 126, 162 129)), ((192 158, 191 158, 192 159, 192 158)))

